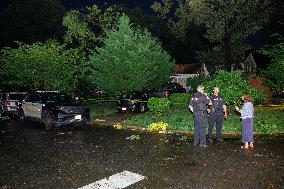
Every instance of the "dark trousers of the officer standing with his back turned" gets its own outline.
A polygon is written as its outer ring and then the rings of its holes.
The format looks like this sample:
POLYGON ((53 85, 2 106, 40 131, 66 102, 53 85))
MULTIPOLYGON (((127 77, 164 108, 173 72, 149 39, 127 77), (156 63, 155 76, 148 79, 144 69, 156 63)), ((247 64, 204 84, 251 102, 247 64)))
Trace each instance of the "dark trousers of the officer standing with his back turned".
POLYGON ((194 145, 206 144, 206 112, 194 112, 194 145))

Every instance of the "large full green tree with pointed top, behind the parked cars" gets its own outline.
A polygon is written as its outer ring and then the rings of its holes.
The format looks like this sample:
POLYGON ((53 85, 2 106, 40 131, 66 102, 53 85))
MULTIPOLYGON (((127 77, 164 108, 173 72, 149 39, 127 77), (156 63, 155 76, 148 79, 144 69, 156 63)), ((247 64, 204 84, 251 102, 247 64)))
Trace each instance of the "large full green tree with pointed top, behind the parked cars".
POLYGON ((127 16, 106 32, 104 47, 96 50, 91 58, 91 80, 113 94, 159 86, 173 68, 160 42, 147 30, 134 30, 127 16))

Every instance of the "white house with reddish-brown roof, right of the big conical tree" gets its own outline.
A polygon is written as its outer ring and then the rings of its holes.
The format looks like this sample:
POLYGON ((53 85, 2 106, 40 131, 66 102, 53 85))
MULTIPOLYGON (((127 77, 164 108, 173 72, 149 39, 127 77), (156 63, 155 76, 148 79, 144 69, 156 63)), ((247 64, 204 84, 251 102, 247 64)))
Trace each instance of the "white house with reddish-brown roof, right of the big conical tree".
POLYGON ((187 78, 198 75, 209 75, 205 64, 175 64, 173 75, 170 78, 172 82, 179 83, 184 88, 187 88, 187 78))

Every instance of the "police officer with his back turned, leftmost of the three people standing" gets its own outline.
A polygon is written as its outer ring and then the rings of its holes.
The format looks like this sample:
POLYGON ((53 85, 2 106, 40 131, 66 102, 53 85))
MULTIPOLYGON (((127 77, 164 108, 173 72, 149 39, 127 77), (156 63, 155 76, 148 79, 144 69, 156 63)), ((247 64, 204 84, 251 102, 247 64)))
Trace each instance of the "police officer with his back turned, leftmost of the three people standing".
POLYGON ((197 92, 190 98, 189 109, 193 112, 194 118, 194 145, 204 148, 208 147, 206 145, 207 105, 211 105, 211 100, 204 93, 204 86, 198 85, 197 92))

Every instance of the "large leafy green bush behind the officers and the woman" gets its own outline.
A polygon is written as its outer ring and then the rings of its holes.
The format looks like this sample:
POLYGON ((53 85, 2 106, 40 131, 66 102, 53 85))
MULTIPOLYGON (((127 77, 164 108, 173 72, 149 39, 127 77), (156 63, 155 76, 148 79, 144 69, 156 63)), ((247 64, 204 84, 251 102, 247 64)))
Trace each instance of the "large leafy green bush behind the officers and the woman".
POLYGON ((211 93, 214 86, 219 87, 220 95, 224 96, 227 105, 240 103, 244 92, 250 93, 256 102, 262 102, 265 97, 264 93, 250 87, 237 73, 217 72, 212 79, 205 83, 205 90, 211 93))

